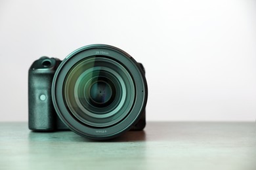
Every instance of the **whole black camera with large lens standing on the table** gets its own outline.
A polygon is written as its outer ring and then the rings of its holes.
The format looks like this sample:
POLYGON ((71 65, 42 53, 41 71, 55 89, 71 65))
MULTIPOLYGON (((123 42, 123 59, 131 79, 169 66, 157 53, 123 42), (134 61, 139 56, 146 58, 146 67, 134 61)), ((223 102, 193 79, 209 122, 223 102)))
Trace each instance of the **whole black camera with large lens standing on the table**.
POLYGON ((146 126, 144 67, 114 46, 83 46, 63 61, 42 57, 28 71, 29 129, 71 129, 112 139, 146 126))

